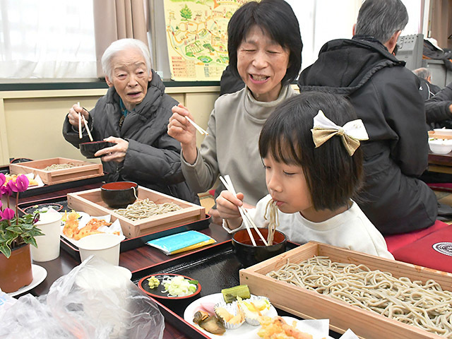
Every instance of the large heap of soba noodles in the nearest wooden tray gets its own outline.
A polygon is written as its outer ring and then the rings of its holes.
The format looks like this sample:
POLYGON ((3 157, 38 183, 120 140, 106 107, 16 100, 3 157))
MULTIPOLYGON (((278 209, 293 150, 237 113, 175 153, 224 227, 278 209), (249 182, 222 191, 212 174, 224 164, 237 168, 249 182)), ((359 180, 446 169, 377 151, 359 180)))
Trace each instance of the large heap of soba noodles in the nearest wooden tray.
POLYGON ((434 280, 411 281, 364 265, 315 256, 267 273, 271 278, 452 338, 452 292, 434 280))

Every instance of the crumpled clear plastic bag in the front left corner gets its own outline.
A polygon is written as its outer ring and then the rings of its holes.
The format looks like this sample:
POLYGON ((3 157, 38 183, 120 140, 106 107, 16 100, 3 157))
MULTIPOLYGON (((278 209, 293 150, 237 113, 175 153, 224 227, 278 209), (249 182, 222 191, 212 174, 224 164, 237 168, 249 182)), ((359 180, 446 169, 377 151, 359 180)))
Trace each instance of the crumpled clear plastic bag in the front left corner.
POLYGON ((0 338, 162 338, 157 305, 119 269, 90 257, 47 295, 20 297, 1 319, 0 338))

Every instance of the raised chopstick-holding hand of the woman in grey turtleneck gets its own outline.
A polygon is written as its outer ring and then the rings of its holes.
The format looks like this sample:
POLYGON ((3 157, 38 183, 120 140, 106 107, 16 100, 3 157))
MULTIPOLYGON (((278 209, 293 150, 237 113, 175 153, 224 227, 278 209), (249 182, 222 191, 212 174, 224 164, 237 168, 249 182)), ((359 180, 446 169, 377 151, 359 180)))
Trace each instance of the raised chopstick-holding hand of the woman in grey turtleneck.
POLYGON ((179 141, 186 162, 193 164, 196 160, 196 129, 186 117, 193 119, 190 112, 182 104, 172 107, 169 118, 168 135, 179 141))

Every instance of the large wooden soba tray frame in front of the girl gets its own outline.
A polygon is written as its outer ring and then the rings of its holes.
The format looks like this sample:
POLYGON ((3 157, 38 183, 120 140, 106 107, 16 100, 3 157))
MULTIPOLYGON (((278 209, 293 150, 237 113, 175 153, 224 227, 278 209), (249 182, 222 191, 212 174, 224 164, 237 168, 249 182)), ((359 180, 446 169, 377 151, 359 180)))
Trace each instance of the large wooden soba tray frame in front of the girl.
POLYGON ((388 319, 372 311, 347 304, 318 292, 297 287, 290 283, 267 277, 266 273, 290 263, 300 263, 314 256, 328 256, 331 261, 340 263, 364 264, 371 270, 393 273, 396 278, 408 277, 425 283, 433 279, 443 290, 452 290, 452 274, 432 270, 409 263, 369 256, 335 246, 309 242, 270 258, 249 268, 240 270, 240 284, 249 286, 254 295, 263 295, 278 309, 283 309, 304 319, 330 319, 333 331, 344 333, 347 328, 362 338, 410 338, 441 339, 439 335, 424 331, 394 319, 388 319))

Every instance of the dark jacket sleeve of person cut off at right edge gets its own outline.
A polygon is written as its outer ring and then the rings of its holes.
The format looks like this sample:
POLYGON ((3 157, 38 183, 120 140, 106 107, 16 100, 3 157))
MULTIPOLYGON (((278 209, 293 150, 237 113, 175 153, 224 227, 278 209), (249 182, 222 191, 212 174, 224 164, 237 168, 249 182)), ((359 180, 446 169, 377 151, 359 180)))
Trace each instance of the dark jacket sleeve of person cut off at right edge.
POLYGON ((425 102, 425 114, 431 129, 452 129, 452 83, 425 102))

